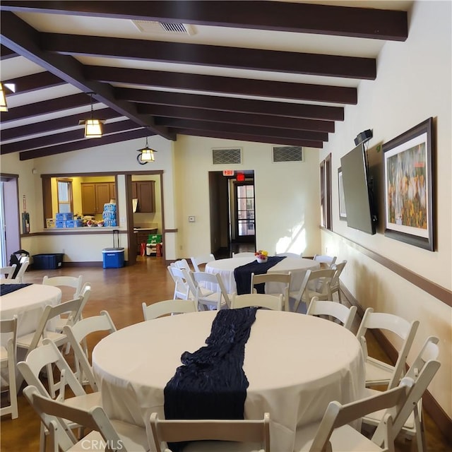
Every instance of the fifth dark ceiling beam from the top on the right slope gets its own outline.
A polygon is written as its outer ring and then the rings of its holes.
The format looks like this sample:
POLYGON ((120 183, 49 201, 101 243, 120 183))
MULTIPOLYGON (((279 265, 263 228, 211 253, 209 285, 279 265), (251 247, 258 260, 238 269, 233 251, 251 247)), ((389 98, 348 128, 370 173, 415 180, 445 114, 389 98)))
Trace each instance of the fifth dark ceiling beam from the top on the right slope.
MULTIPOLYGON (((150 107, 148 105, 148 107, 150 107)), ((216 121, 231 124, 248 124, 250 126, 278 127, 280 129, 309 130, 320 132, 334 132, 333 121, 319 121, 317 119, 299 119, 272 116, 270 114, 246 114, 237 112, 215 112, 201 108, 169 107, 167 105, 153 105, 153 117, 156 123, 158 117, 177 119, 198 119, 200 121, 216 121)))

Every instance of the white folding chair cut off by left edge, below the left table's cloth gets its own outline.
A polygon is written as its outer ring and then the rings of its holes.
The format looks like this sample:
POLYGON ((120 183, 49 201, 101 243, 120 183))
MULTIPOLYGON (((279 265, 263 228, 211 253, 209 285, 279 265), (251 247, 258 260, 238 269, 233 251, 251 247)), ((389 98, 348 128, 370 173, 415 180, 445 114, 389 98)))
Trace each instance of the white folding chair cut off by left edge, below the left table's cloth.
MULTIPOLYGON (((0 321, 0 333, 6 340, 6 347, 0 347, 0 365, 1 369, 8 368, 8 396, 9 405, 1 407, 0 415, 11 415, 11 419, 16 419, 19 415, 17 405, 16 389, 16 339, 17 339, 17 316, 13 319, 0 321), (5 338, 5 335, 8 335, 5 338)), ((1 386, 4 386, 4 376, 1 376, 1 386)))

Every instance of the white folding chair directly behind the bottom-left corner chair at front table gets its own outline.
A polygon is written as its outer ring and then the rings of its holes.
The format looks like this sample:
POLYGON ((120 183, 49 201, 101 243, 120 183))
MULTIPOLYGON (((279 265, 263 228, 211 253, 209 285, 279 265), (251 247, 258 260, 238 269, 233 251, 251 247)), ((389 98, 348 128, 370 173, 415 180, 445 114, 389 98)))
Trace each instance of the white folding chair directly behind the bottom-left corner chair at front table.
MULTIPOLYGON (((83 386, 78 382, 69 364, 64 359, 57 346, 52 340, 44 339, 40 347, 32 350, 25 361, 20 361, 17 367, 27 384, 35 386, 37 391, 46 398, 59 400, 61 403, 71 406, 90 407, 100 405, 100 393, 85 393, 83 386), (48 388, 44 386, 40 379, 41 372, 47 369, 48 388), (49 369, 52 374, 55 372, 56 379, 49 379, 49 369), (66 398, 66 388, 74 394, 71 398, 66 398), (52 395, 51 395, 52 394, 52 395)), ((79 424, 69 424, 71 429, 80 427, 79 424)), ((48 434, 44 424, 41 424, 40 451, 46 449, 46 438, 48 434)))

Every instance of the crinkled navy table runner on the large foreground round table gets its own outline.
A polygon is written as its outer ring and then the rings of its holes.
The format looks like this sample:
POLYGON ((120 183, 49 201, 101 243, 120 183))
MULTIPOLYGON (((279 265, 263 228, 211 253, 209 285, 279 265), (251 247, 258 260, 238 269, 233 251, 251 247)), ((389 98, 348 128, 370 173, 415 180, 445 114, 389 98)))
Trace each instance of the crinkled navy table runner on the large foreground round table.
MULTIPOLYGON (((245 344, 256 307, 222 309, 212 323, 206 346, 184 352, 164 390, 165 419, 244 419, 245 344)), ((168 444, 173 452, 185 444, 168 444)))

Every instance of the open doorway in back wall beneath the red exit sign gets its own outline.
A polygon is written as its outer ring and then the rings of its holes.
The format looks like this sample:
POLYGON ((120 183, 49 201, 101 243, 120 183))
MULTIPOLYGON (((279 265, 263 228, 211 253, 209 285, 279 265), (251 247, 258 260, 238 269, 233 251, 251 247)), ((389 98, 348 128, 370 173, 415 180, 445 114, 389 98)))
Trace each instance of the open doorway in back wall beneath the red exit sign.
POLYGON ((240 173, 242 181, 235 172, 209 172, 210 250, 216 257, 256 250, 254 170, 240 173))

